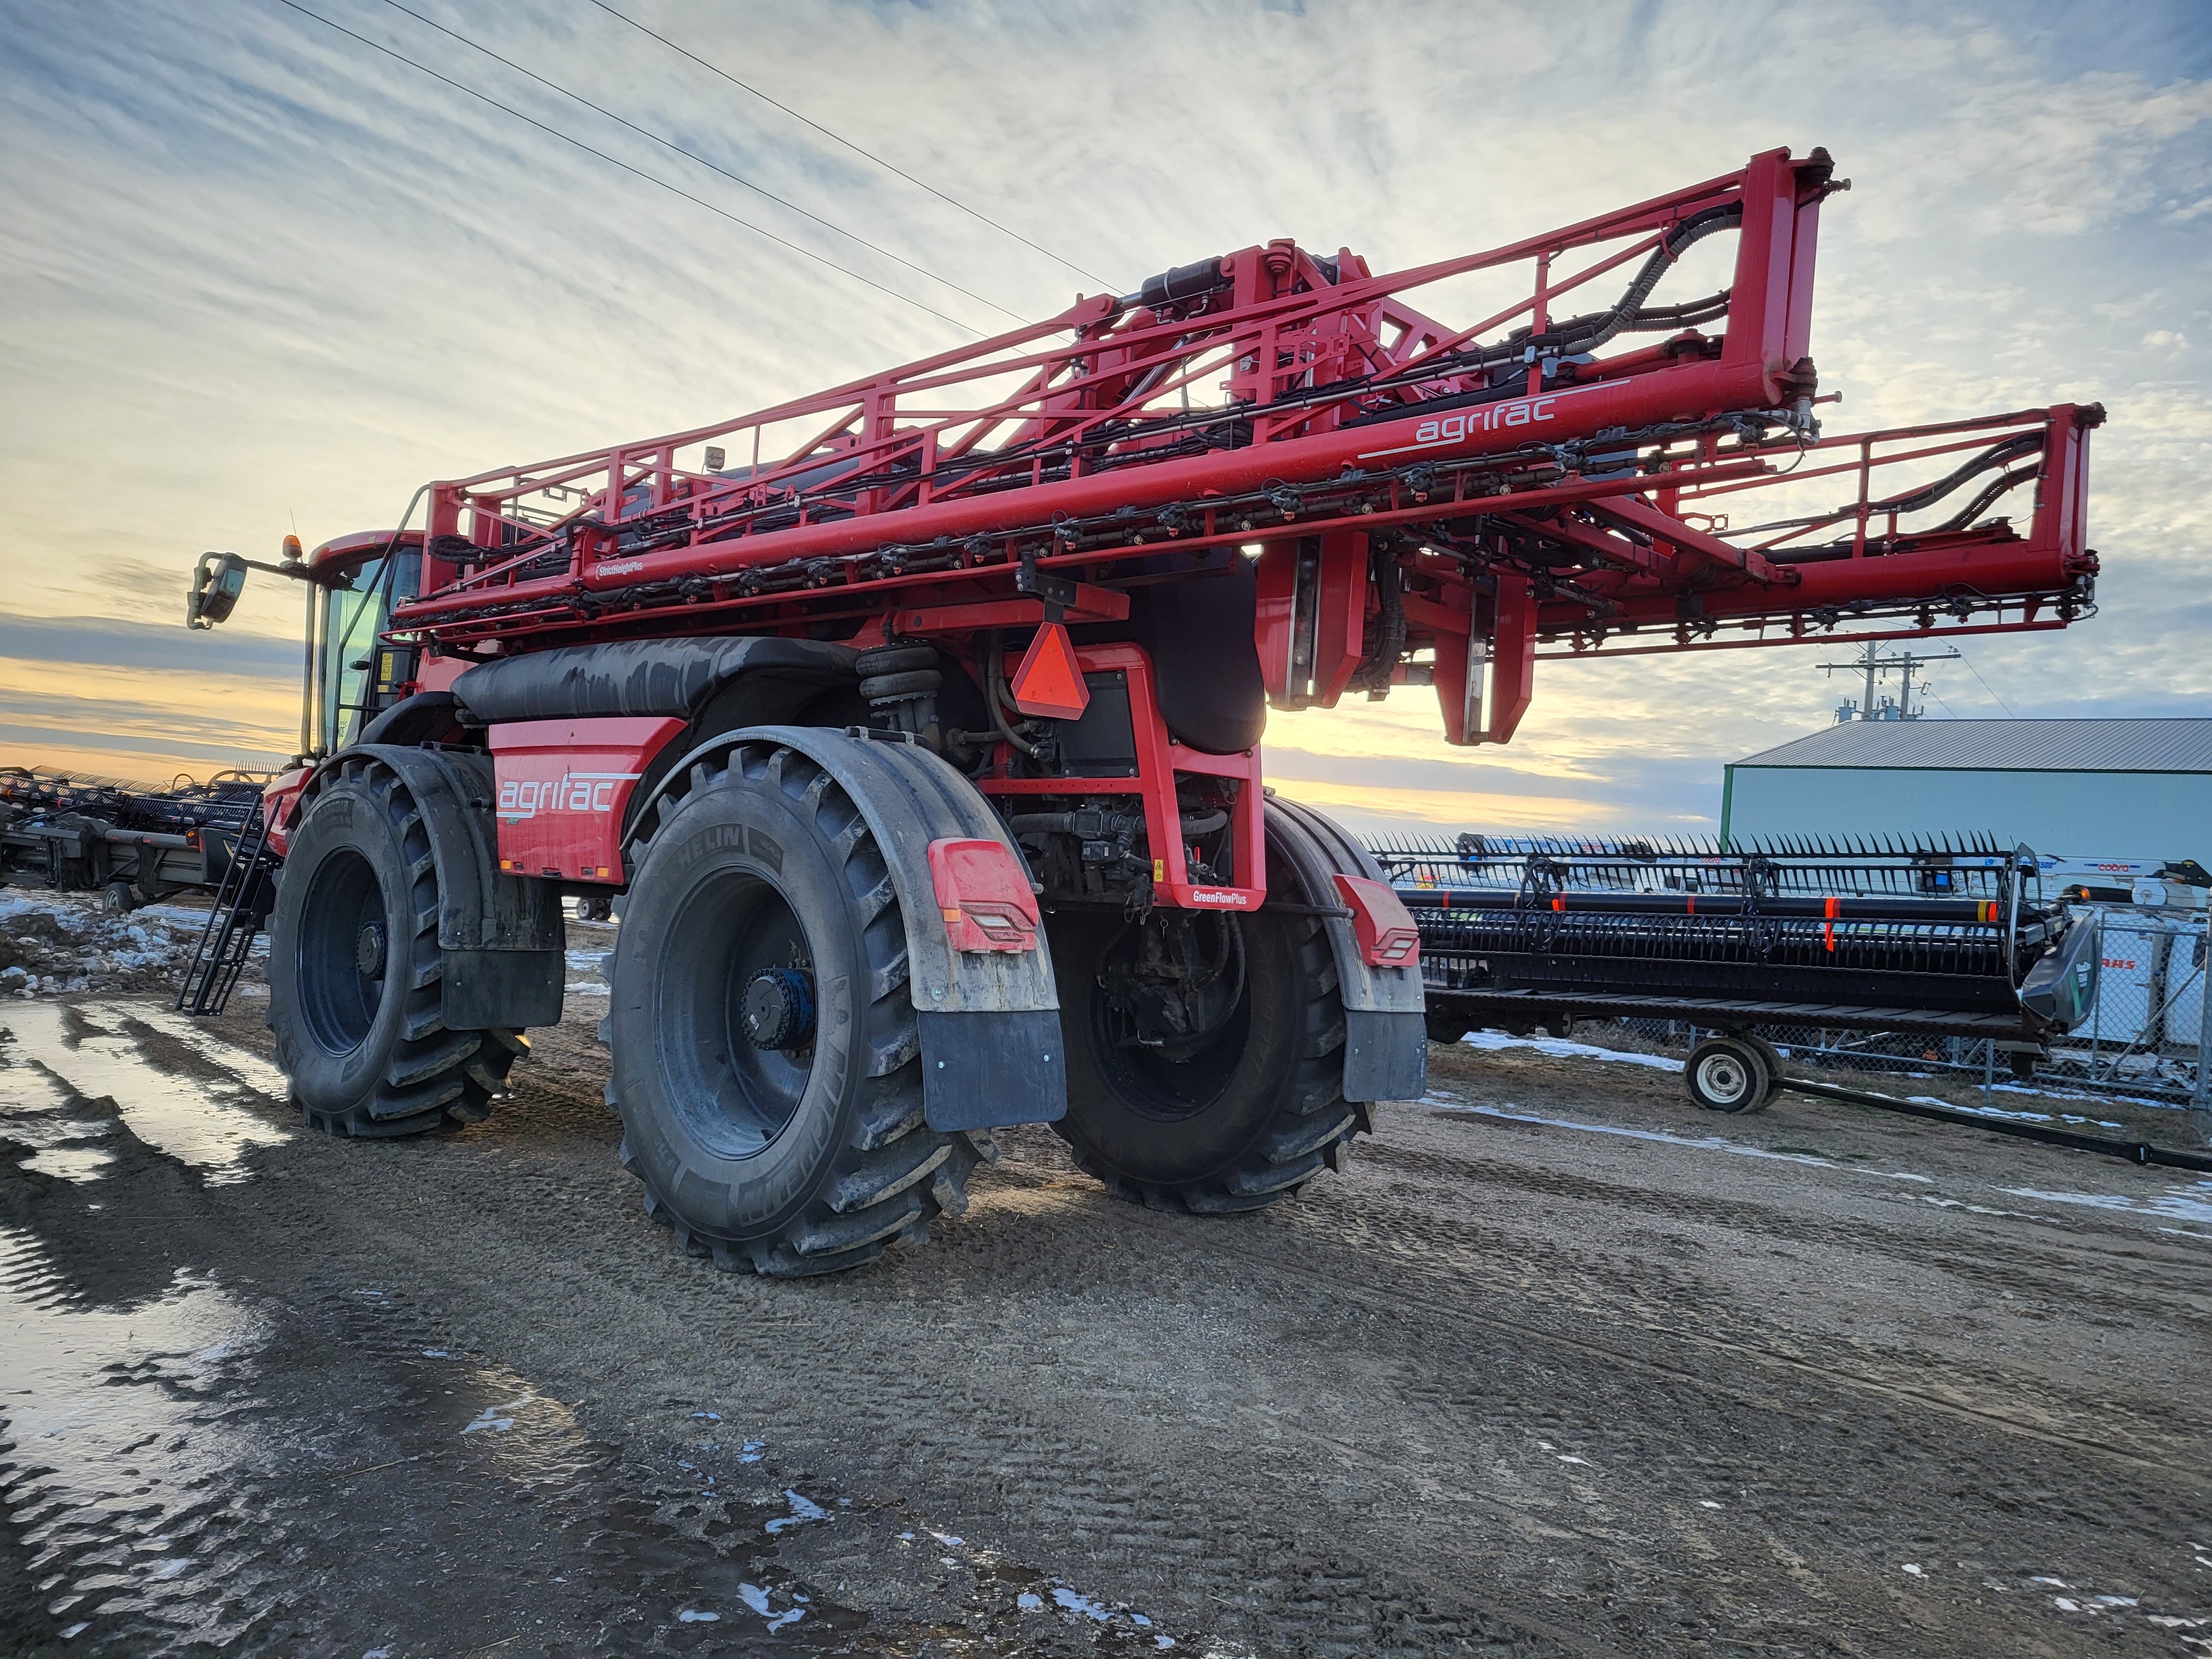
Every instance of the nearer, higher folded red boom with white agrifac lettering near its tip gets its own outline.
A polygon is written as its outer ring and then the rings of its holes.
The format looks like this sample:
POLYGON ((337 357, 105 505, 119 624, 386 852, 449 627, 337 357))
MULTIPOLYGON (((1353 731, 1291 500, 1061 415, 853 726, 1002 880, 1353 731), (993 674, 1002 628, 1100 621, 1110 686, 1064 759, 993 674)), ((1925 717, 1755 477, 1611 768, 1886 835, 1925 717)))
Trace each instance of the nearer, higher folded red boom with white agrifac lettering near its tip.
POLYGON ((409 538, 429 555, 425 595, 394 622, 473 644, 604 637, 611 619, 692 633, 701 606, 765 613, 714 626, 781 626, 792 595, 867 615, 880 584, 1252 540, 1345 478, 1427 504, 1420 480, 1447 469, 1449 509, 1617 471, 1655 436, 1807 431, 1832 173, 1823 150, 1770 150, 1394 274, 1272 241, 739 420, 438 482, 409 538), (1657 303, 1674 263, 1721 234, 1732 281, 1657 303), (1409 299, 1455 288, 1506 296, 1464 325, 1409 299), (1451 473, 1506 456, 1524 465, 1451 473))

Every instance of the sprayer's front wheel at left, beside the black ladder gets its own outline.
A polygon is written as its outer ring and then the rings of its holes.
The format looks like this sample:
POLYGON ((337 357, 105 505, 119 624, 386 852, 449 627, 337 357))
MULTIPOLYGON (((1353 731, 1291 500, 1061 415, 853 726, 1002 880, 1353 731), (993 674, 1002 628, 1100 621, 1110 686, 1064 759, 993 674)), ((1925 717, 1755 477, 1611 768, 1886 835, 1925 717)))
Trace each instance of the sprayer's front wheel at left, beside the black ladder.
POLYGON ((392 768, 361 759, 292 834, 270 911, 276 1064, 314 1128, 422 1135, 478 1124, 529 1046, 447 1031, 429 825, 392 768))

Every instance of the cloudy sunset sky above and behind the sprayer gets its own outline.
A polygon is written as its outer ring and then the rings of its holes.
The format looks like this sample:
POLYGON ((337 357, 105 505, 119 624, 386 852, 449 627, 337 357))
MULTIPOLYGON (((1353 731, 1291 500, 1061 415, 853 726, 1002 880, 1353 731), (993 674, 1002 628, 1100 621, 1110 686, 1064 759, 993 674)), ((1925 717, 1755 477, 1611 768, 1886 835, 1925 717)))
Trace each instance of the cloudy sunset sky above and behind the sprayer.
MULTIPOLYGON (((933 312, 1006 325, 885 254, 1046 316, 1285 234, 1464 254, 1783 144, 1854 181, 1820 226, 1832 431, 2110 411, 2099 615, 1964 641, 1931 714, 2212 712, 2203 4, 608 0, 792 113, 595 0, 301 4, 542 126, 283 0, 0 0, 0 763, 290 754, 301 597, 257 577, 186 633, 201 549, 969 338, 933 312)), ((1504 748, 1447 748, 1402 688, 1274 714, 1267 770, 1367 832, 1710 834, 1725 761, 1854 692, 1838 655, 1540 664, 1504 748)))

